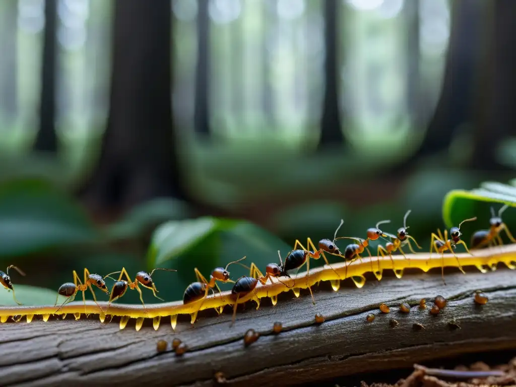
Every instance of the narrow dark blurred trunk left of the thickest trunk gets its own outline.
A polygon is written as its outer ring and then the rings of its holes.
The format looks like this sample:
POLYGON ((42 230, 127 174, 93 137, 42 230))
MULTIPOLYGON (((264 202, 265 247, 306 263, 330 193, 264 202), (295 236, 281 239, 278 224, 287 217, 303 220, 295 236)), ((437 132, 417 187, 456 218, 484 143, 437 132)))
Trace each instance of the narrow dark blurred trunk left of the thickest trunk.
POLYGON ((45 29, 43 35, 43 63, 41 71, 41 98, 39 131, 34 150, 57 151, 56 118, 56 24, 57 0, 45 1, 45 29))

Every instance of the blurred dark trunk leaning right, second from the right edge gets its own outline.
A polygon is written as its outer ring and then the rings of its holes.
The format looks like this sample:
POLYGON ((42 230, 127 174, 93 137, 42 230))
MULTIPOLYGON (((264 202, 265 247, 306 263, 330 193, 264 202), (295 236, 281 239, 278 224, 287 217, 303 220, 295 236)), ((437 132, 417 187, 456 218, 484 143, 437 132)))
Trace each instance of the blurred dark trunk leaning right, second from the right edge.
POLYGON ((454 1, 451 6, 451 32, 441 95, 422 146, 413 159, 449 148, 459 125, 471 120, 483 15, 476 0, 454 1))

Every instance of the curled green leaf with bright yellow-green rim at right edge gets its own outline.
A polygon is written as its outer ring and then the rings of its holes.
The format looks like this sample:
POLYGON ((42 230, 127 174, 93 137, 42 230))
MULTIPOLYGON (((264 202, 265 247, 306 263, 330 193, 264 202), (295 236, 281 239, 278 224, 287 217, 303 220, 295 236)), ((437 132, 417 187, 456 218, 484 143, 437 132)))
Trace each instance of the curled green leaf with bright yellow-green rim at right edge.
POLYGON ((480 215, 485 218, 486 216, 482 216, 482 213, 488 212, 489 209, 486 209, 486 205, 481 206, 479 203, 501 203, 516 207, 515 183, 514 180, 511 181, 511 184, 485 182, 480 184, 479 188, 469 191, 462 189, 449 191, 443 202, 443 219, 446 227, 453 227, 463 219, 473 216, 480 215))

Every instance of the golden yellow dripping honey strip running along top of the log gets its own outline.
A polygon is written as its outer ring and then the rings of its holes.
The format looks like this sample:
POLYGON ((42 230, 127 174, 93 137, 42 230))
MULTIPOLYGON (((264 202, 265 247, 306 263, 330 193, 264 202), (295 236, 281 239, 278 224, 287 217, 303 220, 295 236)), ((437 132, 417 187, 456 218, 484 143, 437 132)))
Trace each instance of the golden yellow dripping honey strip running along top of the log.
MULTIPOLYGON (((307 273, 298 273, 292 278, 281 277, 281 282, 274 280, 272 283, 257 283, 253 292, 242 296, 236 300, 237 303, 244 303, 249 300, 254 300, 257 303, 257 308, 260 307, 260 299, 269 297, 272 304, 277 302, 278 294, 282 292, 293 291, 299 297, 301 288, 307 288, 317 284, 320 281, 330 281, 334 291, 340 288, 341 279, 352 278, 358 287, 365 284, 364 274, 372 271, 372 262, 374 262, 375 270, 379 268, 383 270, 396 270, 402 273, 406 268, 418 268, 423 271, 428 271, 433 268, 441 268, 442 265, 448 267, 475 266, 481 272, 487 272, 489 268, 494 269, 498 263, 505 264, 509 269, 516 269, 516 244, 493 247, 489 249, 482 249, 472 251, 472 254, 457 254, 458 259, 453 254, 436 255, 431 257, 427 253, 410 254, 405 256, 397 255, 385 257, 378 260, 377 257, 364 257, 362 260, 357 260, 346 265, 345 262, 332 264, 331 268, 327 265, 314 268, 310 271, 308 278, 307 273)), ((56 313, 54 305, 44 306, 16 306, 16 307, 0 307, 0 321, 6 322, 9 317, 13 317, 16 321, 21 321, 23 316, 26 321, 30 322, 34 316, 41 315, 43 321, 47 321, 51 314, 62 315, 74 314, 76 319, 80 315, 98 314, 100 320, 104 322, 106 315, 120 316, 120 329, 125 328, 130 318, 136 318, 136 330, 139 330, 145 318, 153 319, 154 329, 159 328, 162 317, 170 316, 172 328, 175 329, 178 315, 190 314, 191 323, 195 322, 197 312, 204 309, 220 309, 224 305, 235 304, 234 298, 231 297, 231 292, 222 292, 221 294, 209 295, 202 304, 200 302, 192 302, 183 304, 182 301, 167 302, 160 304, 149 304, 145 308, 142 305, 133 304, 110 304, 107 302, 87 302, 86 305, 82 302, 75 301, 63 305, 56 313)))

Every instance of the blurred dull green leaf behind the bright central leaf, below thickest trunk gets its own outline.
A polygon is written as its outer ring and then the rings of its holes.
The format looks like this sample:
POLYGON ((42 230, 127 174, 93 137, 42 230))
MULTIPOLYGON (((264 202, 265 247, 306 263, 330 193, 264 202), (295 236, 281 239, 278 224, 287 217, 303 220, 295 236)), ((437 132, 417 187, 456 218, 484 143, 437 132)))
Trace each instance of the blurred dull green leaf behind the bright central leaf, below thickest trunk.
POLYGON ((135 238, 167 220, 184 219, 189 215, 188 206, 179 200, 157 198, 132 209, 120 221, 107 229, 111 238, 135 238))

